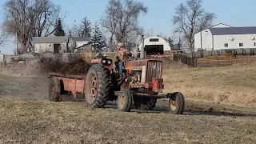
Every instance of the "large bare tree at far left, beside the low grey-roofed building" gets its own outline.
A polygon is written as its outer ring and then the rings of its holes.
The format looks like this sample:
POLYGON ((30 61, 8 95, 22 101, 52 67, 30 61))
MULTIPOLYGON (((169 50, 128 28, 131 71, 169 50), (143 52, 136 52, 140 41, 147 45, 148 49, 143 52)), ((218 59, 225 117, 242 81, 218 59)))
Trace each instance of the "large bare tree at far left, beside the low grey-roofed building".
POLYGON ((19 53, 34 52, 33 37, 49 36, 54 33, 60 7, 50 0, 8 0, 4 27, 8 34, 17 34, 22 46, 19 53))

